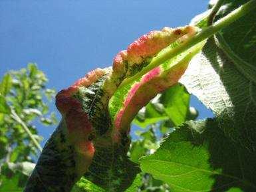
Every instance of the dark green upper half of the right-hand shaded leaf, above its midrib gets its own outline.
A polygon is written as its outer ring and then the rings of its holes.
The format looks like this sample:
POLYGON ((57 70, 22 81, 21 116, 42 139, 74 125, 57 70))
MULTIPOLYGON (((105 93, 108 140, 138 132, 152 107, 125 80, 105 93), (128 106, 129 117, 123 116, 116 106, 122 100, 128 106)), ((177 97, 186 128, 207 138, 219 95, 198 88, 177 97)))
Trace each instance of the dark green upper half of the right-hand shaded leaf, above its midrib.
MULTIPOLYGON (((225 5, 215 20, 224 17, 247 0, 225 1, 225 5)), ((217 33, 217 41, 222 50, 233 61, 235 68, 248 80, 256 84, 256 7, 254 11, 235 21, 217 33)))

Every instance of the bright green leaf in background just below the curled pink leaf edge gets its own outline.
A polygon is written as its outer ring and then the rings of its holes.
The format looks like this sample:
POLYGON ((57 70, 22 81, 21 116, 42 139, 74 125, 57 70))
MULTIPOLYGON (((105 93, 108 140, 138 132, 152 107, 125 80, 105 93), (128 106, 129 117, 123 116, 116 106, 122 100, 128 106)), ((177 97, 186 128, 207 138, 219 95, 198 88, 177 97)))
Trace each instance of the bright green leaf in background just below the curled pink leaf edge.
POLYGON ((190 116, 190 94, 182 84, 176 84, 154 98, 141 110, 133 123, 141 128, 165 120, 179 126, 190 116))

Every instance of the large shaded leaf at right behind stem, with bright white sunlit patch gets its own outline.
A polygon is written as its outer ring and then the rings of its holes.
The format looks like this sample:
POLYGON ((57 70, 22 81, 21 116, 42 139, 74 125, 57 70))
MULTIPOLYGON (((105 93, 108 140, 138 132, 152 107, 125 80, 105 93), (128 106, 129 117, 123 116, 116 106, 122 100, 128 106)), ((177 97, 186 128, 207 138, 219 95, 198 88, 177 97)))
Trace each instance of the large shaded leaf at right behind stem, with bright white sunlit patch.
MULTIPOLYGON (((246 1, 225 1, 215 21, 246 1)), ((256 149, 255 11, 209 39, 180 82, 213 110, 225 134, 256 149)))

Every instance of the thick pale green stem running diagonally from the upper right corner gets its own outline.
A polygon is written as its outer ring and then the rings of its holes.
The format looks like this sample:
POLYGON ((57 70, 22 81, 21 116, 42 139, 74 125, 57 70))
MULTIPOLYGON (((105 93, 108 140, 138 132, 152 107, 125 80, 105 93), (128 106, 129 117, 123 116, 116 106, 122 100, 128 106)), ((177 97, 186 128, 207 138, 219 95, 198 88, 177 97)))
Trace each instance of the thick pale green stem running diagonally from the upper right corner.
POLYGON ((199 33, 197 33, 197 35, 188 39, 188 41, 181 43, 175 48, 172 48, 172 47, 165 48, 165 51, 162 52, 162 54, 158 54, 156 58, 153 58, 152 62, 150 62, 148 66, 145 66, 144 68, 142 68, 142 70, 138 72, 136 75, 124 80, 122 84, 120 84, 120 86, 125 86, 126 84, 133 82, 134 80, 140 78, 140 76, 143 76, 153 68, 156 68, 156 66, 159 66, 160 64, 164 63, 166 60, 173 58, 174 56, 177 56, 178 54, 184 52, 185 50, 188 50, 188 48, 191 48, 197 43, 211 37, 212 35, 217 33, 217 31, 219 31, 220 29, 227 27, 234 21, 237 21, 237 19, 239 19, 240 17, 243 17, 244 15, 249 13, 249 11, 255 9, 255 7, 256 7, 256 0, 248 1, 244 5, 241 5, 241 7, 235 9, 225 17, 213 23, 213 25, 201 30, 199 33))

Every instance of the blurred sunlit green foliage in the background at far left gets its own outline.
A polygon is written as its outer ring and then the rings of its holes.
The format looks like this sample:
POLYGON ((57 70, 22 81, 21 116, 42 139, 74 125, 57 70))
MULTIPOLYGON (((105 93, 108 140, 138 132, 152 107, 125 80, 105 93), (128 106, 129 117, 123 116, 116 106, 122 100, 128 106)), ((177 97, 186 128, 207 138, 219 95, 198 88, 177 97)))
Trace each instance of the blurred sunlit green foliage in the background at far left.
POLYGON ((0 83, 0 191, 22 191, 35 167, 42 138, 36 125, 56 124, 49 102, 55 90, 46 88, 47 78, 30 63, 27 68, 9 71, 0 83))

